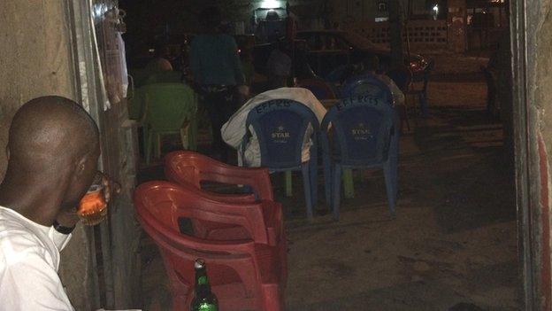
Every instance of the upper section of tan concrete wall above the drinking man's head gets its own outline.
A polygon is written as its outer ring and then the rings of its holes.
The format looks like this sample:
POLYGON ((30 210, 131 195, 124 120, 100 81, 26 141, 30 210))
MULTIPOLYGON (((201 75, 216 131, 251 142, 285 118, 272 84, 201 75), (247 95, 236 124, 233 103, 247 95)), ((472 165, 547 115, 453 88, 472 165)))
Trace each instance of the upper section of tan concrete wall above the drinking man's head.
MULTIPOLYGON (((13 113, 27 100, 74 97, 73 61, 62 1, 0 1, 0 145, 13 113)), ((4 151, 4 149, 3 149, 4 151)), ((0 152, 4 175, 5 152, 0 152)))

